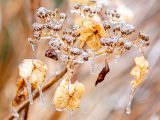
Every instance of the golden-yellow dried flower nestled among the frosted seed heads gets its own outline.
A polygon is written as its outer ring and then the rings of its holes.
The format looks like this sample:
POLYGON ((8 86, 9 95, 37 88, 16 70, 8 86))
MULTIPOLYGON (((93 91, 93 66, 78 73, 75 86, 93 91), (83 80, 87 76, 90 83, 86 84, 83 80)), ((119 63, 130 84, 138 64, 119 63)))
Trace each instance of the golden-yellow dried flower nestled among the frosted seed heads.
POLYGON ((93 51, 97 51, 102 47, 100 39, 106 35, 103 26, 92 20, 83 21, 79 33, 79 40, 85 42, 93 51))

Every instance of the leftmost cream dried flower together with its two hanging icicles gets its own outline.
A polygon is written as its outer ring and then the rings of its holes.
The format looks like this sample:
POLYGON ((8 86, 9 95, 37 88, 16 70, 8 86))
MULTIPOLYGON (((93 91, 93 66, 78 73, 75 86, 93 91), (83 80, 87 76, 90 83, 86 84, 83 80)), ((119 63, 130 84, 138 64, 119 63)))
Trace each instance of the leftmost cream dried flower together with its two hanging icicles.
POLYGON ((25 80, 29 101, 33 103, 32 89, 39 89, 41 102, 44 103, 42 83, 47 74, 47 66, 37 59, 26 59, 19 65, 19 74, 25 80))

